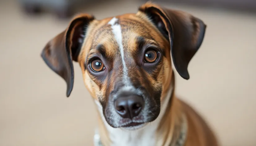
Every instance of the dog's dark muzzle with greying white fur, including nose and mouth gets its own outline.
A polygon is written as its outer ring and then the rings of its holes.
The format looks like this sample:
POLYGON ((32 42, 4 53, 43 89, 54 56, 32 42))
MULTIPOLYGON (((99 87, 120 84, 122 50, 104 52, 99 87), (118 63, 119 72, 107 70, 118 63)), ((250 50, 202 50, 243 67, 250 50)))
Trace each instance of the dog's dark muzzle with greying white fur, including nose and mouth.
POLYGON ((140 128, 155 120, 160 113, 160 94, 152 94, 138 84, 116 84, 110 92, 103 114, 111 127, 140 128))

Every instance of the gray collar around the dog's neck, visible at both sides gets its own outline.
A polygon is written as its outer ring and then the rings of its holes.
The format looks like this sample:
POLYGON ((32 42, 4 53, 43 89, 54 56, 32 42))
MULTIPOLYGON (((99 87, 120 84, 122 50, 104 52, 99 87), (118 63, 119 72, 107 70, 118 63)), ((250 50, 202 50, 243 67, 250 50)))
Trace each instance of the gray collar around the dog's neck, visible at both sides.
MULTIPOLYGON (((188 132, 188 122, 187 117, 185 115, 182 116, 183 122, 180 128, 179 138, 170 144, 170 146, 183 146, 187 139, 187 132, 188 132)), ((94 146, 103 146, 100 140, 99 131, 98 129, 95 130, 94 135, 94 146)))

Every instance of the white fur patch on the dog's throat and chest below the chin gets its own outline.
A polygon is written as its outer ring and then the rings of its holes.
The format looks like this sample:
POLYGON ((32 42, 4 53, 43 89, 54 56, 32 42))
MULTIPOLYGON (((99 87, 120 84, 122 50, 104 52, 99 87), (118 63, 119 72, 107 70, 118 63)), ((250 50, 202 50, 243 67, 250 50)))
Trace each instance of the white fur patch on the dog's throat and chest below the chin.
POLYGON ((112 146, 155 146, 155 134, 158 125, 163 118, 164 112, 166 111, 172 92, 173 87, 170 87, 166 97, 164 98, 165 101, 161 101, 161 111, 157 119, 153 122, 147 123, 143 128, 133 131, 124 130, 121 128, 113 128, 109 126, 103 116, 101 104, 99 101, 95 100, 95 103, 101 113, 100 116, 102 117, 104 124, 109 132, 109 137, 113 142, 112 146))

